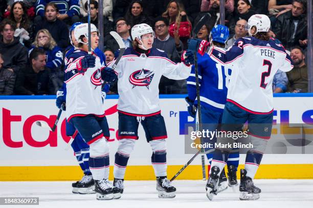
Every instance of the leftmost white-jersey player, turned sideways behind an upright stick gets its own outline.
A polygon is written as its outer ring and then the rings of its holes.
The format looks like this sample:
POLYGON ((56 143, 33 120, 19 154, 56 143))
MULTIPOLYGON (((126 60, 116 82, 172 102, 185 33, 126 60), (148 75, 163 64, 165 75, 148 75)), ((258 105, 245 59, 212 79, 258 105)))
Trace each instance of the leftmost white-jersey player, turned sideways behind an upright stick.
POLYGON ((100 58, 88 54, 88 44, 98 47, 98 31, 91 24, 91 43, 88 43, 88 24, 74 29, 78 49, 68 55, 64 83, 66 84, 66 119, 75 126, 83 140, 90 145, 89 167, 95 181, 96 198, 113 199, 108 181, 109 129, 103 111, 101 86, 113 82, 116 74, 101 64, 100 58))

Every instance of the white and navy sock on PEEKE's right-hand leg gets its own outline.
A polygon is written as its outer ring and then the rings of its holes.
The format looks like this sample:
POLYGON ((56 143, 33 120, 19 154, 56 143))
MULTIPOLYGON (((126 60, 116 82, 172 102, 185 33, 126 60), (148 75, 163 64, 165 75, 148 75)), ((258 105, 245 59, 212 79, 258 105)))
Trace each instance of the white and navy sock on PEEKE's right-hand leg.
POLYGON ((247 156, 245 157, 244 169, 247 170, 248 177, 254 178, 259 165, 261 163, 263 154, 257 151, 248 151, 247 156))

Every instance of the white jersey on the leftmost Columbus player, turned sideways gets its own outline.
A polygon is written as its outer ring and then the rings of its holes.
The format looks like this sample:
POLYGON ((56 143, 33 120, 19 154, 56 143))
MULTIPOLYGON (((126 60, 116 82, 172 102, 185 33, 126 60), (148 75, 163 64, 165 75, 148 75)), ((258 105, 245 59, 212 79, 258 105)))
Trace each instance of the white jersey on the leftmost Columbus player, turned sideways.
POLYGON ((75 116, 93 114, 103 117, 101 98, 101 68, 100 58, 96 56, 96 66, 88 68, 84 73, 78 73, 76 64, 85 56, 86 51, 74 50, 68 56, 65 69, 66 84, 66 118, 68 121, 75 116))

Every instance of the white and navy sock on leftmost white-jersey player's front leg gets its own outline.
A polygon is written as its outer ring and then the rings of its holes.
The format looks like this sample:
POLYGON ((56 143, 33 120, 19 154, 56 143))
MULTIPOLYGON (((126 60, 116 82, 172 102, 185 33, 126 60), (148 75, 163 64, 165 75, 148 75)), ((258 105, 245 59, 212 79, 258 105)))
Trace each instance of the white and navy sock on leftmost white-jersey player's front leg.
POLYGON ((107 179, 106 169, 109 169, 108 142, 101 138, 90 144, 89 167, 95 180, 107 179))

